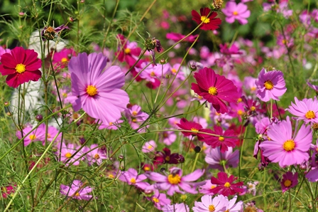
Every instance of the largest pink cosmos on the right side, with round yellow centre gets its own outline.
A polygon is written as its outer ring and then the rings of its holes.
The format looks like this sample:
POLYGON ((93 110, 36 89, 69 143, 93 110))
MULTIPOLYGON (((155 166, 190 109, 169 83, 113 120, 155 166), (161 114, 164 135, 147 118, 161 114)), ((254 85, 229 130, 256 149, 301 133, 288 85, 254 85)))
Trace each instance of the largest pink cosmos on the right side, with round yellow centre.
POLYGON ((263 155, 270 161, 279 163, 281 167, 302 164, 309 159, 308 150, 312 144, 312 129, 305 124, 298 133, 292 134, 290 117, 277 124, 273 123, 267 130, 270 140, 265 140, 259 147, 263 155))

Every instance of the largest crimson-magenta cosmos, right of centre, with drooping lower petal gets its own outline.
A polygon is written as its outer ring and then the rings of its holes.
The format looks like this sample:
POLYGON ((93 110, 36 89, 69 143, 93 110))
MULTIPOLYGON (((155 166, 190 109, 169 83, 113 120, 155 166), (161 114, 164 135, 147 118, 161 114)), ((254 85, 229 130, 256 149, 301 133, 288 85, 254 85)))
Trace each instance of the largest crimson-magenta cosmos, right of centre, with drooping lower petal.
POLYGON ((197 84, 192 83, 191 89, 212 103, 216 112, 229 112, 226 102, 236 102, 240 95, 231 80, 214 73, 212 68, 203 68, 198 73, 194 73, 197 84))

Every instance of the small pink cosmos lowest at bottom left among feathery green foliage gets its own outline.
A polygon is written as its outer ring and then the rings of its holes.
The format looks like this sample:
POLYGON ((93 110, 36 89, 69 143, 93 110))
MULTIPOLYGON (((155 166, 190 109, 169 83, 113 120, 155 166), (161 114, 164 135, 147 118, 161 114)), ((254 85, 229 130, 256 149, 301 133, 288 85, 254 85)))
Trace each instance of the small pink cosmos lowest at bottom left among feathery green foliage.
POLYGON ((75 199, 82 199, 89 201, 93 196, 89 195, 93 191, 92 187, 85 186, 82 187, 82 181, 74 180, 72 181, 71 186, 65 186, 63 184, 60 185, 60 193, 65 196, 73 196, 75 199), (81 188, 82 189, 79 189, 81 188), (78 191, 77 191, 78 190, 78 191))

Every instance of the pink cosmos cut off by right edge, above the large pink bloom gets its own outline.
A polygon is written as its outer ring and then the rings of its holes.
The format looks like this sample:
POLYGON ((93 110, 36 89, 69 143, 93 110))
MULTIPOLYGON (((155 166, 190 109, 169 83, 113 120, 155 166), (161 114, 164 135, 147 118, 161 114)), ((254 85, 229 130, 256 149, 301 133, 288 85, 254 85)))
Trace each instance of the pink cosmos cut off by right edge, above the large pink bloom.
POLYGON ((318 101, 312 99, 298 100, 295 97, 295 104, 286 109, 292 115, 297 116, 297 120, 303 120, 306 124, 309 122, 318 122, 318 101))

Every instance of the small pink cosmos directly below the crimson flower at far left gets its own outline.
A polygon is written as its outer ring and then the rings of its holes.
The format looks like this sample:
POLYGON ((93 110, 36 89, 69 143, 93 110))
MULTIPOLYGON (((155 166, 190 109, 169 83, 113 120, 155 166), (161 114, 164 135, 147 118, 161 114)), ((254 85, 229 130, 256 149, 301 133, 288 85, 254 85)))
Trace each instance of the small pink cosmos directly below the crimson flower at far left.
MULTIPOLYGON (((28 134, 31 130, 33 129, 33 127, 26 127, 23 129, 23 137, 28 134)), ((17 131, 16 132, 16 137, 18 137, 18 139, 22 138, 22 134, 21 131, 17 131)), ((36 128, 33 132, 31 132, 30 134, 28 134, 28 136, 24 139, 24 146, 28 146, 28 144, 30 144, 31 142, 39 142, 39 141, 43 141, 45 140, 45 124, 40 124, 40 126, 38 126, 38 128, 36 128)))

